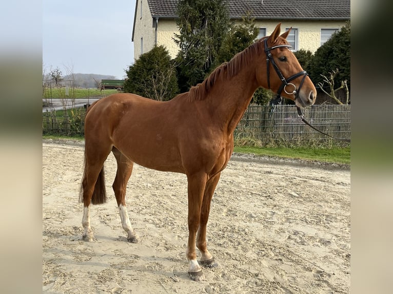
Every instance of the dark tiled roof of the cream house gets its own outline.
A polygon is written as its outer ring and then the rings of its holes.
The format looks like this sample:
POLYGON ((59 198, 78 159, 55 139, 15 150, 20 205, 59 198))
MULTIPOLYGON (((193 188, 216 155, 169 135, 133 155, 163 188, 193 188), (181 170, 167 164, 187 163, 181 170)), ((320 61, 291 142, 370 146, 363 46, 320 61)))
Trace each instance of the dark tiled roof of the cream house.
MULTIPOLYGON (((176 17, 178 0, 147 0, 151 15, 176 17)), ((229 0, 230 18, 250 10, 256 19, 350 19, 350 0, 229 0)))

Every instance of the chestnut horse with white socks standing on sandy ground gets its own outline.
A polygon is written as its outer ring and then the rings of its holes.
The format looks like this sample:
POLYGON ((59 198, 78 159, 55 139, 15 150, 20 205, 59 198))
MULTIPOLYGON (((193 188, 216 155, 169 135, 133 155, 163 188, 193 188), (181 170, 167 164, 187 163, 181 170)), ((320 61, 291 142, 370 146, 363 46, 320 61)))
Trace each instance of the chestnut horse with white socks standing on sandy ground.
POLYGON ((83 240, 94 240, 90 204, 106 201, 104 162, 117 161, 113 191, 127 240, 140 241, 126 208, 126 187, 136 164, 183 173, 188 180, 188 274, 204 279, 202 266, 217 263, 206 246, 206 225, 213 192, 233 152, 233 131, 258 87, 312 105, 316 88, 288 49, 289 30, 277 25, 268 37, 235 55, 202 83, 170 101, 129 93, 112 94, 91 104, 85 118, 85 168, 81 184, 83 240), (201 252, 197 261, 195 245, 201 252))

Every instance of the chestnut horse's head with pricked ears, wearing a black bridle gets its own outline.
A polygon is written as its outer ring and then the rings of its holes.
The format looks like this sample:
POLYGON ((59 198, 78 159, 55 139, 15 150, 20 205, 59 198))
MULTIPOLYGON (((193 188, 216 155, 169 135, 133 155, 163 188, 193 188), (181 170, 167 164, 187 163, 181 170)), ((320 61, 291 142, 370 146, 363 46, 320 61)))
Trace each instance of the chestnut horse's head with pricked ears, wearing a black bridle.
POLYGON ((290 29, 280 35, 281 23, 273 33, 259 40, 264 53, 261 64, 257 67, 259 85, 273 92, 294 100, 298 107, 304 108, 315 103, 317 90, 298 59, 289 50, 286 40, 290 29), (265 79, 267 73, 267 80, 265 79))

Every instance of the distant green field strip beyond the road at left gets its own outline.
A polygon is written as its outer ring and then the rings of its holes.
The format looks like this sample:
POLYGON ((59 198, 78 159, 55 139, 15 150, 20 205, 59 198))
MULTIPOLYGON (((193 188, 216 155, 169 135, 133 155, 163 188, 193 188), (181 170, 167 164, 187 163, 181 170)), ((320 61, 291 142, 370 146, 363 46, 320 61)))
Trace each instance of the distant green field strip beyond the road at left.
POLYGON ((49 88, 43 92, 43 98, 90 98, 90 97, 106 97, 110 94, 117 93, 116 89, 103 90, 100 89, 69 89, 68 96, 66 96, 65 88, 49 88))

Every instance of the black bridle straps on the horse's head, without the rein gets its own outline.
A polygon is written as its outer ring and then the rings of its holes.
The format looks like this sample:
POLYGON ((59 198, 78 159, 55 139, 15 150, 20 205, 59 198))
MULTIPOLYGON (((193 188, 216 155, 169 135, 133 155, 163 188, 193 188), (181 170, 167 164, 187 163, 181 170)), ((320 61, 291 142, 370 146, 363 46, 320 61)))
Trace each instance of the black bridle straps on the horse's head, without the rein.
POLYGON ((308 75, 307 72, 306 71, 301 71, 301 72, 299 72, 297 74, 294 74, 294 75, 290 76, 289 78, 285 79, 285 77, 281 73, 279 67, 277 66, 276 62, 274 61, 273 56, 270 53, 270 50, 275 49, 275 48, 279 48, 279 47, 290 48, 292 46, 290 46, 290 45, 277 45, 277 46, 273 46, 273 47, 267 47, 267 38, 264 39, 264 45, 265 45, 265 52, 266 52, 267 87, 270 89, 270 71, 269 71, 270 66, 269 66, 269 62, 271 62, 271 65, 273 66, 273 68, 276 71, 277 75, 282 80, 281 86, 280 86, 279 90, 277 91, 277 95, 280 96, 281 92, 284 90, 284 92, 287 93, 288 95, 296 94, 296 96, 295 96, 295 100, 296 100, 299 97, 300 88, 303 85, 304 79, 308 75), (293 85, 293 83, 290 83, 290 81, 293 80, 293 79, 296 79, 297 77, 300 77, 302 75, 303 75, 303 79, 300 82, 299 89, 296 90, 296 86, 293 85), (286 90, 286 87, 289 86, 289 85, 293 87, 292 92, 288 92, 286 90))

